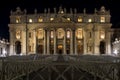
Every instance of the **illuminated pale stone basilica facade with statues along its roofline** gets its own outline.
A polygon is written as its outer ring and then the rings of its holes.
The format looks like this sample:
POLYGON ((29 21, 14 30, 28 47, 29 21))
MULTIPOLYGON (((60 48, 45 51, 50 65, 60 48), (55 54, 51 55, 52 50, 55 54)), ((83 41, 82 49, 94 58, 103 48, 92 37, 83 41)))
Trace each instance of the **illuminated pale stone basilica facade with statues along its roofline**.
POLYGON ((62 7, 28 14, 17 7, 8 24, 10 55, 111 54, 110 17, 104 6, 92 14, 62 7))

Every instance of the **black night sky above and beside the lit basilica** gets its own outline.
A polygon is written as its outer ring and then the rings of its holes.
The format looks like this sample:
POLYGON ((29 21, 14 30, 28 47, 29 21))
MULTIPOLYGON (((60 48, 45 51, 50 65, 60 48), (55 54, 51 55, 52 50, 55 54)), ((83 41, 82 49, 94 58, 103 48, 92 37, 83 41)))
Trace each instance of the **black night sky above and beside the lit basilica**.
POLYGON ((86 8, 87 13, 93 13, 94 8, 100 9, 105 6, 111 12, 111 23, 113 27, 120 22, 120 4, 118 0, 4 0, 0 2, 0 37, 9 39, 9 16, 11 10, 20 7, 22 10, 27 9, 27 13, 33 13, 36 8, 38 12, 43 12, 44 8, 62 6, 67 8, 77 8, 82 12, 86 8), (9 2, 11 1, 11 2, 9 2), (116 2, 115 2, 116 1, 116 2))

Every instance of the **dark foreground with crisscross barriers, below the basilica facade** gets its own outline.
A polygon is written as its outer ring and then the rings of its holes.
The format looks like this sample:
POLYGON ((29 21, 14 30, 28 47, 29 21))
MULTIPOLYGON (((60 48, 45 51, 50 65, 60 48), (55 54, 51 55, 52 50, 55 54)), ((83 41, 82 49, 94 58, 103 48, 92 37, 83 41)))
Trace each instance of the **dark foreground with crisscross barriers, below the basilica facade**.
POLYGON ((11 56, 0 59, 0 80, 120 80, 119 61, 91 55, 11 56))

